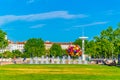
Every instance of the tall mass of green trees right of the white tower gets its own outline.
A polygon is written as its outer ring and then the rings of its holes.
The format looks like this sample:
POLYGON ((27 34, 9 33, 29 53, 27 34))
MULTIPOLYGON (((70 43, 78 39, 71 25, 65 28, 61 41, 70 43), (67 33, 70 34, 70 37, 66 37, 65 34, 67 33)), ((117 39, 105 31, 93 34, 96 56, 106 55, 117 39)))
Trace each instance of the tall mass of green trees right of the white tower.
POLYGON ((86 45, 86 53, 94 58, 117 58, 120 54, 120 27, 113 29, 109 26, 101 31, 86 45))

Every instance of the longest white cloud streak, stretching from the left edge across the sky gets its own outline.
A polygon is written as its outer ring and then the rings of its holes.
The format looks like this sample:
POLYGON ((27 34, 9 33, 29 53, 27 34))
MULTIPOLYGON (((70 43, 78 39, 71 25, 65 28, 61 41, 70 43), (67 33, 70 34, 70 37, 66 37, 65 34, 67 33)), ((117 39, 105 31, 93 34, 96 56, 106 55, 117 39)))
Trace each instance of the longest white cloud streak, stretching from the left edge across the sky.
POLYGON ((36 20, 45 20, 45 19, 54 19, 54 18, 62 18, 62 19, 73 19, 73 18, 86 18, 88 17, 85 14, 69 14, 67 11, 53 11, 47 13, 39 13, 39 14, 29 14, 29 15, 4 15, 0 16, 0 25, 17 21, 36 21, 36 20))

